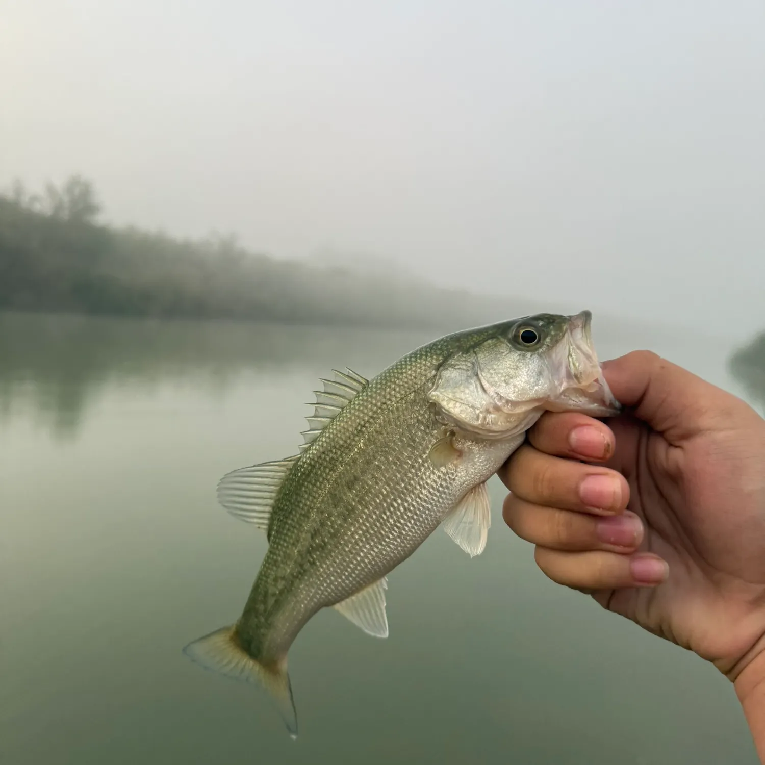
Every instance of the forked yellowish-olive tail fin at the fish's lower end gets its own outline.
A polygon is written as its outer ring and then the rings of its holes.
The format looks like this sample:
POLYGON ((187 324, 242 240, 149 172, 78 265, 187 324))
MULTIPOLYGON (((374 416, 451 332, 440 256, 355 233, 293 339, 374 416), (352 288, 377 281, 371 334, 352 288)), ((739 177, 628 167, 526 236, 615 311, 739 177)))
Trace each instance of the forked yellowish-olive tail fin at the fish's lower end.
POLYGON ((221 675, 263 685, 271 692, 292 738, 298 737, 298 716, 292 700, 287 662, 265 666, 239 646, 233 627, 223 627, 184 648, 192 661, 221 675))

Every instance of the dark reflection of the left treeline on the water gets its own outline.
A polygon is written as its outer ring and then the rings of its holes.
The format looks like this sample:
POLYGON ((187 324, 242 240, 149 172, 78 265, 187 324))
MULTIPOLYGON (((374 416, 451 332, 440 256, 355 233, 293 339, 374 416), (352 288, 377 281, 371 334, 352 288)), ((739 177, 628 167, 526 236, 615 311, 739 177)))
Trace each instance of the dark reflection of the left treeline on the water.
MULTIPOLYGON (((438 333, 436 333, 438 334, 438 333)), ((107 389, 177 381, 223 393, 242 373, 376 369, 428 332, 223 321, 0 314, 0 417, 21 410, 60 439, 107 389)))

